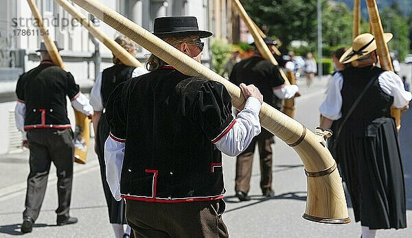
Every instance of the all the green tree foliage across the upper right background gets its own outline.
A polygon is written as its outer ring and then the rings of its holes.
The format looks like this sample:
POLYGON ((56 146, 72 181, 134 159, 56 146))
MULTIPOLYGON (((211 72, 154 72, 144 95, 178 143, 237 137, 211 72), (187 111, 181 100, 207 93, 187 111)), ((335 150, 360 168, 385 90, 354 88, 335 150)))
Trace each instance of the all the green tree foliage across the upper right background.
MULTIPOLYGON (((347 4, 322 1, 322 35, 325 56, 332 48, 352 43, 353 14, 347 4)), ((343 1, 343 0, 342 0, 343 1)), ((352 0, 348 0, 352 1, 352 0)), ((407 0, 411 1, 411 0, 407 0)), ((394 37, 389 49, 398 51, 402 60, 412 46, 412 16, 402 15, 403 6, 411 5, 404 0, 391 1, 380 9, 382 25, 394 37), (390 28, 390 29, 388 29, 390 28)), ((282 40, 282 50, 290 48, 292 40, 306 40, 308 47, 301 51, 315 51, 317 47, 317 0, 241 0, 253 21, 266 26, 266 34, 282 40)), ((367 10, 367 9, 362 9, 367 10)), ((369 32, 369 20, 361 19, 361 33, 369 32)), ((299 51, 300 49, 294 49, 299 51)))

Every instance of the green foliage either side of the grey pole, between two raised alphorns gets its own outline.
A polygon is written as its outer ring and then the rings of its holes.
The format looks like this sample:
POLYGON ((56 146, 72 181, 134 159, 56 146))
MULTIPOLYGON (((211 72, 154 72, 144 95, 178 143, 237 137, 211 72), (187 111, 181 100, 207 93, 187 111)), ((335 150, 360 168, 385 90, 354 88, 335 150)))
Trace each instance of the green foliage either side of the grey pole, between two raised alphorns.
MULTIPOLYGON (((306 40, 317 47, 317 0, 243 0, 244 8, 258 25, 266 25, 268 35, 288 47, 292 40, 306 40)), ((352 39, 352 14, 343 3, 322 0, 323 44, 347 45, 352 39)))

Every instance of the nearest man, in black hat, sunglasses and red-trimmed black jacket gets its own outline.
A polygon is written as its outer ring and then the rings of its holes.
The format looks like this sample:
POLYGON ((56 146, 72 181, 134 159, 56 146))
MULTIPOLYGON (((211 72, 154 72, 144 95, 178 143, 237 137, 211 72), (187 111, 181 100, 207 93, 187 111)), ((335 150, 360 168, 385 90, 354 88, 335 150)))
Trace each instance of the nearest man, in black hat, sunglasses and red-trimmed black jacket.
MULTIPOLYGON (((200 62, 193 16, 155 19, 154 34, 200 62)), ((236 156, 260 133, 258 88, 236 119, 225 86, 192 78, 155 55, 151 71, 119 84, 108 99, 108 183, 126 199, 126 219, 137 237, 228 237, 222 220, 225 188, 221 152, 236 156)))

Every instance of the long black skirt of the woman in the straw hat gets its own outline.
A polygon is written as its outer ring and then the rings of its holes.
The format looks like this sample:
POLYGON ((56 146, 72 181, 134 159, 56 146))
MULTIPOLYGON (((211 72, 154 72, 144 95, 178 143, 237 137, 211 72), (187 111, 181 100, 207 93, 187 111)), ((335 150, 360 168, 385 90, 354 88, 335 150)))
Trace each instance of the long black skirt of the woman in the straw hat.
POLYGON ((336 157, 356 222, 370 229, 405 228, 404 175, 395 121, 348 120, 336 157))

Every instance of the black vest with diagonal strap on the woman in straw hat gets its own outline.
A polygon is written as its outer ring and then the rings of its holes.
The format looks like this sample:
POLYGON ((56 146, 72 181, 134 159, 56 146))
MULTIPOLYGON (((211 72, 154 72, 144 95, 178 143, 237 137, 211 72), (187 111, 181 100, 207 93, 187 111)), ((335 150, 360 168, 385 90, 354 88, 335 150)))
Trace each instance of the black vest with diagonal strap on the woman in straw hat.
POLYGON ((350 120, 366 120, 372 121, 378 117, 391 117, 391 105, 393 97, 387 95, 379 86, 378 77, 383 72, 378 67, 347 67, 341 71, 343 75, 343 86, 341 95, 343 98, 342 117, 347 115, 347 112, 354 104, 356 98, 363 91, 363 88, 370 80, 376 79, 374 84, 366 91, 363 98, 356 106, 354 112, 350 116, 350 120))

